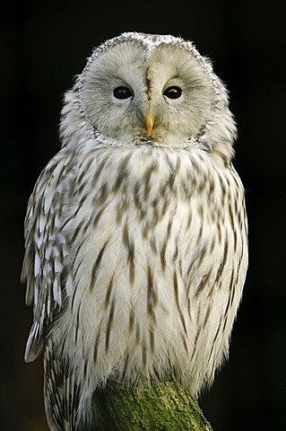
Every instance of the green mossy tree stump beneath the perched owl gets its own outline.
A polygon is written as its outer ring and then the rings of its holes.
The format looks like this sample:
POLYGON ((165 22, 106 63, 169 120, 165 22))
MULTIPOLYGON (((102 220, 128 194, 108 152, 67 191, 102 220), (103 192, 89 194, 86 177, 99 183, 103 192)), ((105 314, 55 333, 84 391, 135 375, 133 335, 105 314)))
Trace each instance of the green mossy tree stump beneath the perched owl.
POLYGON ((195 398, 177 382, 133 390, 112 385, 104 395, 118 431, 212 431, 195 398))

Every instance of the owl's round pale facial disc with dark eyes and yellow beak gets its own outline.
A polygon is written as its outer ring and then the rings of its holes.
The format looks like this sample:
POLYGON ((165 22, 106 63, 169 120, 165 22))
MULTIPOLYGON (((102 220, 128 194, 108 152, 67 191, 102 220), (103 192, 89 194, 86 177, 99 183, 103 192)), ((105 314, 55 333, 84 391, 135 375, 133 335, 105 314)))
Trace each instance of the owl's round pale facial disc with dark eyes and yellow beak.
POLYGON ((93 128, 126 145, 180 146, 211 117, 204 64, 178 44, 123 40, 86 68, 82 108, 93 128))

